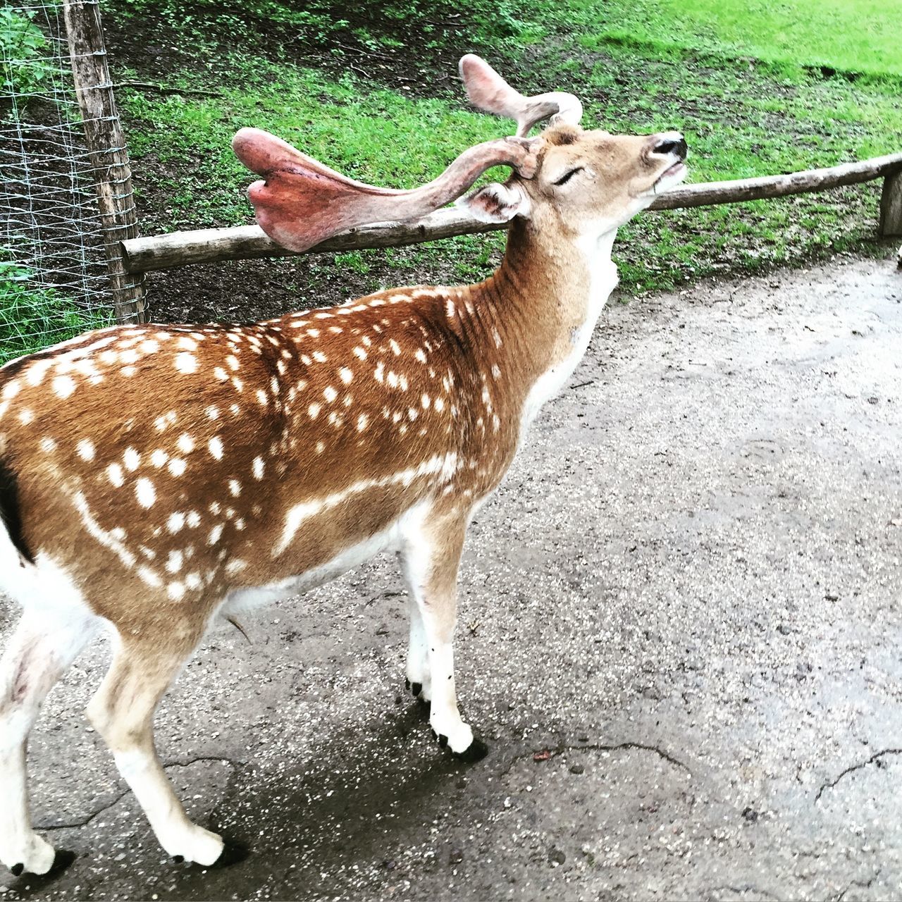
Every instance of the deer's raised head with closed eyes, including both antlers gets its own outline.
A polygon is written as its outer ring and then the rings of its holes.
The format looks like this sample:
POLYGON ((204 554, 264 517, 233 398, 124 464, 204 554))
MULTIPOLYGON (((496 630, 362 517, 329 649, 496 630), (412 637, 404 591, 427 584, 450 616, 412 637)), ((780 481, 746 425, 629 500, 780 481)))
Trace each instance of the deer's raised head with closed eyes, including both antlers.
POLYGON ((262 175, 249 190, 257 221, 279 244, 307 250, 345 229, 425 216, 456 198, 484 222, 527 218, 571 235, 611 232, 648 207, 659 191, 686 177, 686 141, 676 132, 645 136, 584 131, 583 108, 572 94, 524 97, 473 54, 460 61, 474 106, 515 119, 517 134, 476 144, 437 179, 419 189, 376 188, 347 179, 259 129, 244 128, 233 147, 262 175), (529 138, 533 125, 548 129, 529 138), (504 184, 462 198, 485 170, 511 167, 504 184))

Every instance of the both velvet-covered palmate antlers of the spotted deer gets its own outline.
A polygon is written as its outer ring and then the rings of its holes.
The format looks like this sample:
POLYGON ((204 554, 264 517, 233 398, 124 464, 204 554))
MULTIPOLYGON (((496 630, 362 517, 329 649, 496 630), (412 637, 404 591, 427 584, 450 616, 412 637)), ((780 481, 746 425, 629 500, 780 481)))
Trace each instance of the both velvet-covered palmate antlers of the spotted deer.
POLYGON ((426 216, 459 198, 492 166, 511 166, 522 178, 531 179, 538 142, 524 137, 529 129, 549 116, 553 124, 579 123, 583 107, 572 94, 523 97, 472 53, 460 61, 460 70, 474 105, 516 119, 517 135, 476 144, 437 179, 417 189, 377 188, 348 179, 275 135, 241 129, 232 147, 249 170, 262 176, 248 189, 262 230, 292 251, 306 251, 355 226, 426 216))

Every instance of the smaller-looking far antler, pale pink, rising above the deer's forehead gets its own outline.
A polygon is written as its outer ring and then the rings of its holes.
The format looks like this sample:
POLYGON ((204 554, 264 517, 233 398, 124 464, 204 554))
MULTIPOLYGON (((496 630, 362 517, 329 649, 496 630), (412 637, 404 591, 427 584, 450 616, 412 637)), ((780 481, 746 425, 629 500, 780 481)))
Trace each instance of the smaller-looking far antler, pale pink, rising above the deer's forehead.
POLYGON ((578 125, 583 118, 583 105, 573 94, 550 91, 524 97, 474 53, 461 57, 459 65, 470 103, 486 113, 515 120, 518 137, 525 137, 529 129, 543 119, 550 118, 552 125, 578 125))

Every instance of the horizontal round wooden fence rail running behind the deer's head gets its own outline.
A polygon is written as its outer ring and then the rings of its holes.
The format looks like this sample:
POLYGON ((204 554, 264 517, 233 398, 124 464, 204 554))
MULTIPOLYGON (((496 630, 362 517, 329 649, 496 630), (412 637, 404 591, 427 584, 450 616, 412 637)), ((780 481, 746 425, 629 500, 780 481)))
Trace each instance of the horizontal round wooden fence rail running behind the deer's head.
MULTIPOLYGON (((780 198, 790 194, 853 185, 882 176, 892 177, 900 172, 902 172, 902 153, 893 153, 872 160, 843 163, 829 169, 762 176, 758 179, 686 185, 662 194, 651 205, 651 209, 707 207, 763 198, 780 198)), ((479 222, 464 210, 451 208, 437 210, 415 222, 375 223, 372 226, 351 229, 304 253, 400 247, 404 244, 419 244, 452 235, 472 235, 506 227, 504 224, 490 225, 479 222)), ((169 235, 152 235, 124 241, 123 248, 129 272, 170 269, 189 263, 289 256, 293 253, 275 244, 263 234, 259 226, 199 229, 192 232, 172 232, 169 235)))

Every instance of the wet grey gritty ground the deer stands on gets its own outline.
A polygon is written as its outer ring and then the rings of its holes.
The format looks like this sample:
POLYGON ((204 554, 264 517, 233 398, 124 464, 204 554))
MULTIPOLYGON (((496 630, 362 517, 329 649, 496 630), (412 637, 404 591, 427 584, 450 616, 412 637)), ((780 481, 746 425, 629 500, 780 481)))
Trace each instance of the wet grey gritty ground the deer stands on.
MULTIPOLYGON (((173 865, 84 720, 31 744, 48 899, 878 899, 902 891, 902 272, 841 258, 612 303, 470 533, 447 759, 380 560, 217 631, 171 778, 250 842, 173 865)), ((14 613, 0 603, 0 625, 14 613)))

